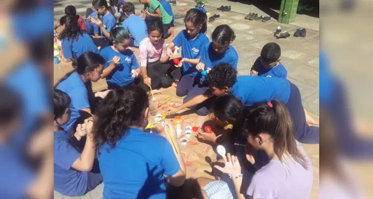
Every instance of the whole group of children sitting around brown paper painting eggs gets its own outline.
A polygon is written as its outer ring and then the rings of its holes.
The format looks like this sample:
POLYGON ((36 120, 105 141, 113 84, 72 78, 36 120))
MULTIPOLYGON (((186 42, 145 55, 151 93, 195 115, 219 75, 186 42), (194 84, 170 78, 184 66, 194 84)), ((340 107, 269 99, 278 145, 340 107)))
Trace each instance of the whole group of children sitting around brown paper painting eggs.
POLYGON ((224 136, 197 133, 229 143, 218 161, 225 166, 215 166, 221 180, 196 179, 203 198, 308 198, 312 164, 299 142, 319 143, 319 127, 307 124, 316 122, 286 80, 280 46, 264 45, 250 75, 237 77, 230 26, 217 26, 210 42, 206 14, 192 8, 166 45, 174 22, 168 2, 139 2, 138 16, 130 2, 93 0, 97 11, 88 8, 85 23, 69 5, 54 27, 61 26, 58 38, 75 68, 54 86, 54 190, 82 196, 104 182, 104 199, 164 199, 169 187, 182 186, 187 171, 175 128, 166 122, 164 137, 145 131, 149 96, 174 86, 185 98, 167 114, 194 108, 232 126, 224 136), (170 60, 175 46, 182 47, 179 64, 170 60), (139 60, 129 47, 139 48, 139 60), (92 83, 104 78, 108 90, 94 93, 92 83))

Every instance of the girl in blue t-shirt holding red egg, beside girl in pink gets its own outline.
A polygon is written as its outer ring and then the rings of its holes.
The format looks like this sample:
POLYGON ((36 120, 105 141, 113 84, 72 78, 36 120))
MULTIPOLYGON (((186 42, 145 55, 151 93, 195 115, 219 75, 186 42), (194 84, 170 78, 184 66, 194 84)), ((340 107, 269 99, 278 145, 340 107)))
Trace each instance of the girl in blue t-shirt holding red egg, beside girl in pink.
POLYGON ((173 41, 167 46, 166 53, 173 57, 172 48, 183 47, 181 60, 176 67, 181 67, 181 79, 176 88, 176 95, 179 97, 189 95, 193 89, 194 79, 197 75, 196 65, 200 62, 200 49, 209 43, 205 35, 207 30, 206 14, 192 8, 185 15, 185 30, 182 30, 173 41))

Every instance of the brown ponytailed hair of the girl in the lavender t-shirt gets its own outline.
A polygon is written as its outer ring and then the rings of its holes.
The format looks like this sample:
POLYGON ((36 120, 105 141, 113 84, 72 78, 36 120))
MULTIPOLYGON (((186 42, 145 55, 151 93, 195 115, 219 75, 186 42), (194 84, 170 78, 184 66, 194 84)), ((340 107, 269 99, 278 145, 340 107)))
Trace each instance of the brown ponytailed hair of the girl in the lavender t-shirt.
POLYGON ((240 114, 240 128, 245 137, 266 133, 273 139, 274 153, 283 163, 283 156, 289 155, 304 169, 307 160, 298 150, 293 135, 293 122, 286 106, 280 100, 259 102, 245 107, 240 114))

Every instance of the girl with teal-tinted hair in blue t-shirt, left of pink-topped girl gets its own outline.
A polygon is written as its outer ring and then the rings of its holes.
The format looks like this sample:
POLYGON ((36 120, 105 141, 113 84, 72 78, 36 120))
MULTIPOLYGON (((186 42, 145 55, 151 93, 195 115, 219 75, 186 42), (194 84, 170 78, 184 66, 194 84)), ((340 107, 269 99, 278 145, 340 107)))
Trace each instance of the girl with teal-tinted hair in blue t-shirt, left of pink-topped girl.
POLYGON ((115 27, 110 32, 113 45, 101 50, 107 63, 102 74, 106 78, 109 89, 126 85, 143 85, 143 80, 137 78, 141 71, 133 52, 128 49, 129 33, 124 27, 115 27))

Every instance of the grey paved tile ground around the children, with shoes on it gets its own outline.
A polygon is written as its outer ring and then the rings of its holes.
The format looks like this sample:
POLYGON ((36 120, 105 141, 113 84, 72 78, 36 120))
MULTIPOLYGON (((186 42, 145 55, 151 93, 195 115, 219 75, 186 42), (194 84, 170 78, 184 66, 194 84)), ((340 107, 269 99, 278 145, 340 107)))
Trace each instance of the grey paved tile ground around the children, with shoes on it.
MULTIPOLYGON (((135 5, 136 13, 140 13, 143 5, 138 0, 131 1, 135 5)), ((55 0, 54 19, 59 20, 64 15, 64 8, 67 5, 74 5, 78 14, 85 16, 86 9, 92 7, 91 0, 55 0)), ((175 14, 175 28, 184 29, 183 19, 186 12, 178 11, 179 8, 192 8, 195 3, 191 0, 178 0, 177 5, 172 6, 175 14)), ((267 23, 261 21, 249 21, 244 17, 249 12, 257 12, 259 15, 266 15, 262 10, 254 5, 232 2, 228 0, 209 0, 205 9, 211 14, 220 14, 220 18, 213 23, 208 23, 207 35, 211 39, 211 33, 217 25, 230 25, 237 37, 232 43, 239 53, 238 71, 240 75, 248 75, 250 62, 255 60, 264 44, 267 42, 276 42, 281 46, 282 61, 288 71, 288 79, 297 85, 300 89, 303 106, 316 115, 319 115, 319 31, 318 28, 307 29, 306 37, 288 37, 286 39, 276 39, 273 32, 277 26, 282 30, 288 31, 291 35, 299 26, 279 24, 273 20, 267 23), (221 12, 216 10, 222 4, 231 5, 231 12, 221 12)), ((305 19, 303 19, 305 20, 305 19)), ((310 27, 318 27, 318 20, 310 18, 312 24, 310 27)), ((299 24, 299 23, 297 23, 299 24)), ((300 24, 301 25, 301 24, 300 24)), ((99 186, 93 192, 87 194, 82 199, 99 199, 102 198, 103 186, 99 186)), ((65 197, 55 193, 55 198, 64 199, 65 197)))

